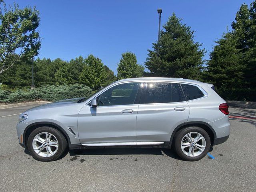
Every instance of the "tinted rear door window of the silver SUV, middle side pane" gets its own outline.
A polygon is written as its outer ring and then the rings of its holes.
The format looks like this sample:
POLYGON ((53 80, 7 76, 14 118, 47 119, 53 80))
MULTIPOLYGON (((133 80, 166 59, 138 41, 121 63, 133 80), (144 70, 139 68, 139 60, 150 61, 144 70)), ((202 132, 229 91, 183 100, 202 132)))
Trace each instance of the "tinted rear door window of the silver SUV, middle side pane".
POLYGON ((148 82, 142 104, 181 102, 182 94, 177 83, 148 82))

